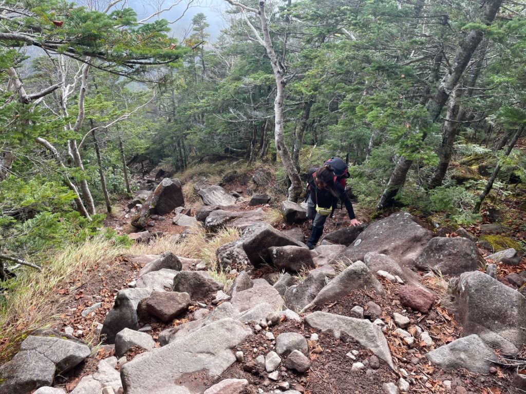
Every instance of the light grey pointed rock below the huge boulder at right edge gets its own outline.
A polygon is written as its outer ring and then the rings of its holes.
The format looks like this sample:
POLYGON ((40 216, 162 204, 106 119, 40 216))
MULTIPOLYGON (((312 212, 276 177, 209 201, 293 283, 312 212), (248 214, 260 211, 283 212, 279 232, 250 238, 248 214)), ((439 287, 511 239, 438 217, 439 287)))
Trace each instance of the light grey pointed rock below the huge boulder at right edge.
POLYGON ((487 359, 497 360, 493 350, 476 334, 459 338, 430 351, 426 357, 441 368, 466 368, 481 374, 487 374, 493 365, 487 359))

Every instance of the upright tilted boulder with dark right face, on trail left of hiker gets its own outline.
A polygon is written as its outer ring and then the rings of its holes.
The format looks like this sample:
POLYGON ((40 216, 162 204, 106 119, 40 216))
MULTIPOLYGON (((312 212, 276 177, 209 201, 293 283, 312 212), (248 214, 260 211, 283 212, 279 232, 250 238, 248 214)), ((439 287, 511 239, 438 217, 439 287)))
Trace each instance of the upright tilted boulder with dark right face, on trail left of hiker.
POLYGON ((163 179, 148 196, 137 215, 131 219, 131 225, 144 229, 150 215, 166 215, 178 206, 184 206, 185 199, 181 182, 177 179, 163 179))

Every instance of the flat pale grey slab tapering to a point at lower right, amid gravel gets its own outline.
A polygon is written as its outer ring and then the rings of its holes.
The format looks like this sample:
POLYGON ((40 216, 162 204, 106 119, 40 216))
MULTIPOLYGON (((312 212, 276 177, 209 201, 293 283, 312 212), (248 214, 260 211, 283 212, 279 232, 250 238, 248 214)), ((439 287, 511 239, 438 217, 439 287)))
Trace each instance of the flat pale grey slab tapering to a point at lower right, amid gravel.
POLYGON ((395 369, 391 351, 380 327, 365 319, 356 319, 326 312, 314 312, 305 316, 305 322, 312 328, 330 333, 336 339, 357 341, 361 346, 370 349, 380 360, 395 369))

